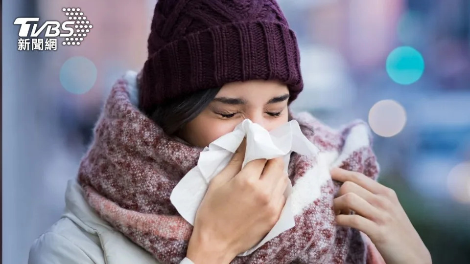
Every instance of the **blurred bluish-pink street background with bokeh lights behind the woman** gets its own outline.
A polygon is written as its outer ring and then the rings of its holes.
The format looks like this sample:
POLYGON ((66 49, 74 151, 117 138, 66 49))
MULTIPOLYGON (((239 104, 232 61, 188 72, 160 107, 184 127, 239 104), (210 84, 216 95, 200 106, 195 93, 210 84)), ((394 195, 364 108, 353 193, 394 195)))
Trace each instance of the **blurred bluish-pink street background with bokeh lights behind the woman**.
MULTIPOLYGON (((155 2, 3 1, 3 263, 26 263, 59 219, 111 86, 146 59, 155 2), (63 7, 93 25, 79 46, 18 50, 17 17, 62 22, 63 7)), ((292 109, 335 128, 366 120, 379 181, 396 190, 433 263, 470 263, 470 1, 279 3, 305 80, 292 109)))

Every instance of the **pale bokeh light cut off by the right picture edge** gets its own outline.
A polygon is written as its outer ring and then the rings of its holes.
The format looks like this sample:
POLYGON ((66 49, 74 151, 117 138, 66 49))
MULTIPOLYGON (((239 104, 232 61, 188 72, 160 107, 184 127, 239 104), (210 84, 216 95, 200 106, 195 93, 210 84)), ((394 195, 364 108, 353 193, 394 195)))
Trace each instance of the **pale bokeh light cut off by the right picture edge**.
POLYGON ((458 164, 449 172, 447 187, 455 200, 470 203, 470 161, 458 164))

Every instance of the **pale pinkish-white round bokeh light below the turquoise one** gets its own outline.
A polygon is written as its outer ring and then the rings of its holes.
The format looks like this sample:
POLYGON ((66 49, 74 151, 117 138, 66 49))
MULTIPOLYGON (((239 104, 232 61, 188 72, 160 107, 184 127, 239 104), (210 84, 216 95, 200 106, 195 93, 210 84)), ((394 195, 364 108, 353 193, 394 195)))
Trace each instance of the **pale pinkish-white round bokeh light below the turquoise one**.
POLYGON ((379 101, 369 111, 369 125, 380 136, 394 136, 403 130, 405 124, 406 111, 394 100, 379 101))

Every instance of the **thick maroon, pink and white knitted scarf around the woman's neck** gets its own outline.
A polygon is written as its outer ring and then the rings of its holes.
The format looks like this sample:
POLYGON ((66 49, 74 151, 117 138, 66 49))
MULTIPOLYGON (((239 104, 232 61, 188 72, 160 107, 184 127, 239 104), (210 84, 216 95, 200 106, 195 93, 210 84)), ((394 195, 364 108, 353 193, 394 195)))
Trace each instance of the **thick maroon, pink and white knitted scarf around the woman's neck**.
MULTIPOLYGON (((102 219, 158 262, 179 263, 186 256, 192 226, 171 204, 170 194, 196 166, 202 149, 165 134, 131 102, 131 88, 126 79, 112 88, 80 163, 78 181, 102 219)), ((291 155, 295 227, 232 263, 366 263, 372 253, 361 233, 335 223, 332 202, 340 183, 331 180, 329 168, 376 179, 371 133, 360 120, 333 130, 308 113, 294 119, 321 150, 314 158, 291 155)))

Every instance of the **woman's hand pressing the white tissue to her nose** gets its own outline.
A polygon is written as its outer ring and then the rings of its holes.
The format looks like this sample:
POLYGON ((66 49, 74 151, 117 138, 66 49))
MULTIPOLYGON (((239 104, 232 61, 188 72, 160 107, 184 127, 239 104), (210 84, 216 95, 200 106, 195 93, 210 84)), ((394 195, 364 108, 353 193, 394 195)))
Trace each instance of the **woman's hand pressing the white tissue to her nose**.
POLYGON ((288 177, 282 158, 253 160, 241 170, 246 141, 215 176, 196 214, 187 257, 229 263, 267 235, 279 220, 288 177))

